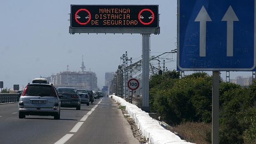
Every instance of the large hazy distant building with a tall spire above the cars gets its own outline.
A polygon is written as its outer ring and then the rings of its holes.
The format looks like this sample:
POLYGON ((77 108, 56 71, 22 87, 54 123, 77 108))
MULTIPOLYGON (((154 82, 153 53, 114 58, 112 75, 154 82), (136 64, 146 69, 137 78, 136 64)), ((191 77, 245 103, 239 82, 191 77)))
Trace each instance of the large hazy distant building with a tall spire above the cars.
POLYGON ((97 76, 96 73, 91 71, 85 71, 84 62, 82 59, 81 71, 71 72, 63 71, 52 75, 50 82, 56 87, 76 87, 78 89, 90 89, 96 90, 97 88, 97 76))

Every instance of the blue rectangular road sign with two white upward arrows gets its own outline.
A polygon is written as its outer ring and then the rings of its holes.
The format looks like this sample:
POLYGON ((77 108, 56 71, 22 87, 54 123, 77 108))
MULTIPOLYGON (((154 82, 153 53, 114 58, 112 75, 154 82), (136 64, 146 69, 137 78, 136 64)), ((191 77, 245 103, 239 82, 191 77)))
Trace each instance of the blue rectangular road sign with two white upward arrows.
POLYGON ((178 0, 177 68, 252 71, 256 0, 178 0))

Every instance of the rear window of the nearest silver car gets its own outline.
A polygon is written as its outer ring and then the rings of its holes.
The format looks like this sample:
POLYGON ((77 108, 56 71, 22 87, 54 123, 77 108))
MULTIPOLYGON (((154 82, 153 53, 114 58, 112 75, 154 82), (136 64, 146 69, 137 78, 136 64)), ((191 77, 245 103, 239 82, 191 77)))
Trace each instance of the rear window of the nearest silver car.
POLYGON ((25 96, 55 97, 50 85, 28 85, 25 96))

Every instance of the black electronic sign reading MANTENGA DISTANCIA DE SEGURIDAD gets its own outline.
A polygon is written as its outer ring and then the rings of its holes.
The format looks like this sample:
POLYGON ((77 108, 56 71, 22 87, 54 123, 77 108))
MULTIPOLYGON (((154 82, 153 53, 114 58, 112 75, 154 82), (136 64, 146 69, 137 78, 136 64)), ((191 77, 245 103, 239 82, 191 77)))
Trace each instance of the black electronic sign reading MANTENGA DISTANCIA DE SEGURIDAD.
POLYGON ((71 5, 71 28, 158 28, 158 5, 71 5))

